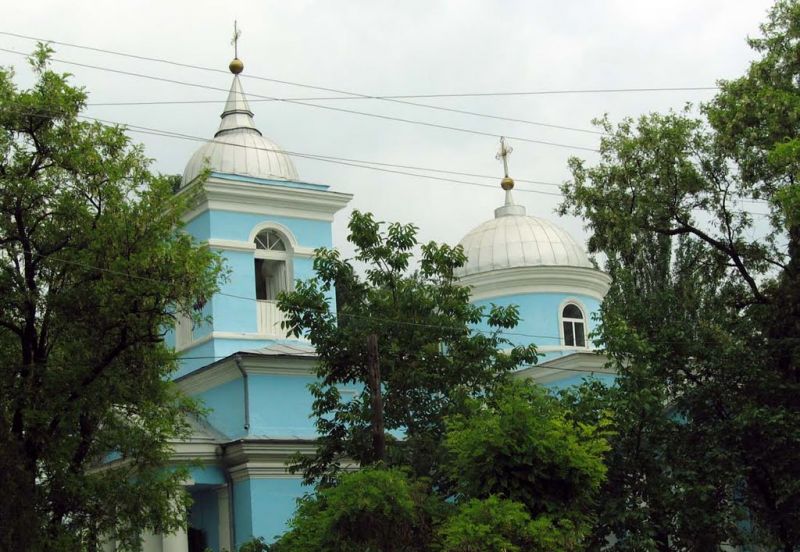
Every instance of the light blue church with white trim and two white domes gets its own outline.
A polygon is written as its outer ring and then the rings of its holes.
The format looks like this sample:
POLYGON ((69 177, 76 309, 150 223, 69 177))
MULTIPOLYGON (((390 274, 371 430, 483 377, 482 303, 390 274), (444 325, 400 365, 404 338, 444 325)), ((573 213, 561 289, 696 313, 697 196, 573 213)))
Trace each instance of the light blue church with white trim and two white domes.
MULTIPOLYGON (((177 384, 209 410, 194 422, 192 438, 175 444, 177 463, 198 462, 186 482, 189 527, 145 535, 146 552, 233 551, 253 537, 269 542, 308 491, 286 463, 314 449, 307 385, 315 353, 308 342, 285 337, 275 299, 313 276, 313 251, 334 245, 333 217, 352 196, 304 182, 291 157, 259 131, 238 76, 242 68, 231 63, 219 128, 189 160, 182 181, 186 189, 205 178, 186 229, 220 251, 231 271, 204 307, 211 322, 178 320, 168 336, 182 358, 177 384)), ((563 229, 515 204, 507 171, 502 187, 494 217, 460 242, 469 259, 461 281, 477 304, 519 307, 514 341, 535 343, 543 356, 518 377, 553 388, 590 374, 613 378, 587 337, 608 276, 563 229)))

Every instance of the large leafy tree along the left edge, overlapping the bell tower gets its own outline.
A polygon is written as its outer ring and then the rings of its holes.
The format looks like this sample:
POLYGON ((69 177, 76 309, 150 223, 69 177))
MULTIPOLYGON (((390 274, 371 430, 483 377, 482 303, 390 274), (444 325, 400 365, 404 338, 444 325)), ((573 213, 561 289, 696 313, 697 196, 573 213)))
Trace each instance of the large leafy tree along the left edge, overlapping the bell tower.
POLYGON ((123 129, 80 119, 86 93, 50 52, 30 90, 0 70, 0 550, 136 548, 185 518, 163 468, 196 407, 163 337, 221 264, 180 230, 191 194, 123 129))

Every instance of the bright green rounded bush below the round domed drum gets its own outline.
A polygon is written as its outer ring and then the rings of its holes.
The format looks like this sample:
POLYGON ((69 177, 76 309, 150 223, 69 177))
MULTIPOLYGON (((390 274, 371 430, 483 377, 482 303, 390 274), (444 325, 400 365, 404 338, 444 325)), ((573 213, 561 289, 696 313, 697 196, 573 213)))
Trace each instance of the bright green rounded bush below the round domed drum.
POLYGON ((514 380, 448 419, 449 470, 460 496, 500 496, 579 541, 605 478, 604 420, 571 420, 543 388, 514 380), (543 516, 543 517, 542 517, 543 516))

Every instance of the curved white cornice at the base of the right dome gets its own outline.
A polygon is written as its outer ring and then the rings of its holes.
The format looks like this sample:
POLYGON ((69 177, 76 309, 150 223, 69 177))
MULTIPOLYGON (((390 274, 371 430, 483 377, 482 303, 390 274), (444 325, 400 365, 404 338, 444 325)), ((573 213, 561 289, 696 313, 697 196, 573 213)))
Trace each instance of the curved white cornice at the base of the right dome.
POLYGON ((472 288, 472 300, 526 293, 588 295, 602 301, 611 277, 601 270, 577 266, 524 266, 470 274, 460 279, 472 288))

